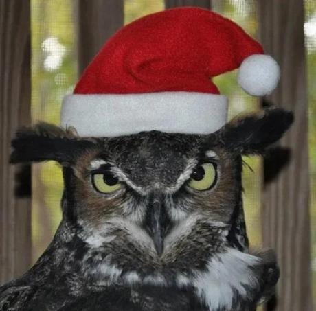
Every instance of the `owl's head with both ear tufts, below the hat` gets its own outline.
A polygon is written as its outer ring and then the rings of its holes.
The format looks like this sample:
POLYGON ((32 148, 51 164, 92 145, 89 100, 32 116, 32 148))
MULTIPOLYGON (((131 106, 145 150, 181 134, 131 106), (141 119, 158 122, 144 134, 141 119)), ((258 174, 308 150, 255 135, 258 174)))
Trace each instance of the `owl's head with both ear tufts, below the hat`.
POLYGON ((128 237, 161 255, 189 231, 203 239, 205 224, 231 229, 241 204, 242 154, 264 152, 292 120, 287 111, 269 109, 210 135, 150 131, 110 138, 38 124, 19 131, 11 161, 63 165, 63 218, 86 241, 128 237))

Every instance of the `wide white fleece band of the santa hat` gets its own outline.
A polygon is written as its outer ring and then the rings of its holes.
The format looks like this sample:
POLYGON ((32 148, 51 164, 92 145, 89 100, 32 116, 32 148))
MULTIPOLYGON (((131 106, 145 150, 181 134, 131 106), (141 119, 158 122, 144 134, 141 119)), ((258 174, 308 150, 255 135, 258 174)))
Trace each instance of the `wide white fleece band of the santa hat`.
POLYGON ((227 98, 192 92, 67 95, 60 125, 80 137, 113 137, 142 131, 209 134, 227 119, 227 98))

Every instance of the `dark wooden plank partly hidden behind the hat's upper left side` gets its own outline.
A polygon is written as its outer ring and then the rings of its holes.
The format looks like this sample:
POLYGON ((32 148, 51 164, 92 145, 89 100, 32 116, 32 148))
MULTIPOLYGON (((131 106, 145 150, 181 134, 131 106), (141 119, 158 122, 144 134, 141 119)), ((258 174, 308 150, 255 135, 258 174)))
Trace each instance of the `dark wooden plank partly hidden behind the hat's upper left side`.
POLYGON ((124 23, 123 0, 78 0, 79 72, 124 23))

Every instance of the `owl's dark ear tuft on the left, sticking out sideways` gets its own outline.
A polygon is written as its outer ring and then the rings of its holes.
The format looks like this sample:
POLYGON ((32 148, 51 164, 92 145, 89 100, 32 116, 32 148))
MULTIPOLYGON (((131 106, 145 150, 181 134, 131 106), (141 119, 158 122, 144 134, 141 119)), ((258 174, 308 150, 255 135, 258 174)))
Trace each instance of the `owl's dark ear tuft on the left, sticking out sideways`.
POLYGON ((80 139, 70 131, 42 122, 18 130, 12 140, 10 163, 54 160, 69 165, 78 155, 93 147, 95 143, 92 141, 80 139))

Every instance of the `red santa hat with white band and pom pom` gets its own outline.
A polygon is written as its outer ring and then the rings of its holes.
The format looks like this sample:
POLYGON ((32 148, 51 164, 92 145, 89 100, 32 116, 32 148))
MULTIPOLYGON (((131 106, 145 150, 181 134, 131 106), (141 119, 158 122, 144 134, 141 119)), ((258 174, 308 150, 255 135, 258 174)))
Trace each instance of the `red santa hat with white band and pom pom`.
POLYGON ((201 8, 150 14, 95 56, 63 100, 61 126, 81 137, 212 133, 227 119, 227 98, 212 78, 237 68, 251 95, 271 93, 280 76, 275 60, 229 19, 201 8))

